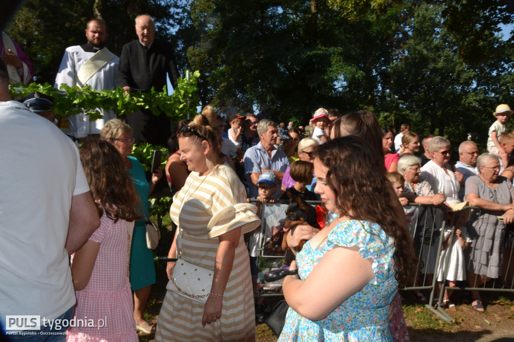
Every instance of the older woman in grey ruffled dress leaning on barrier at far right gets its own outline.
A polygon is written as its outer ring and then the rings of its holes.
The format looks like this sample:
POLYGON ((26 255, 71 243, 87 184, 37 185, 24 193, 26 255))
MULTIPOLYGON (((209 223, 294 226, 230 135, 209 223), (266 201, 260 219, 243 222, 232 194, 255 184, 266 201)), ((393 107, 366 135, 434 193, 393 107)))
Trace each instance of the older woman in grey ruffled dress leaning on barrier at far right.
MULTIPOLYGON (((498 157, 484 153, 476 159, 476 168, 479 175, 466 180, 466 200, 469 205, 482 208, 481 211, 473 211, 468 226, 473 241, 467 278, 472 288, 500 276, 505 224, 514 222, 514 188, 507 178, 498 176, 498 157), (498 220, 498 216, 502 216, 504 222, 498 220)), ((471 291, 471 294, 473 310, 484 312, 479 292, 471 291)))

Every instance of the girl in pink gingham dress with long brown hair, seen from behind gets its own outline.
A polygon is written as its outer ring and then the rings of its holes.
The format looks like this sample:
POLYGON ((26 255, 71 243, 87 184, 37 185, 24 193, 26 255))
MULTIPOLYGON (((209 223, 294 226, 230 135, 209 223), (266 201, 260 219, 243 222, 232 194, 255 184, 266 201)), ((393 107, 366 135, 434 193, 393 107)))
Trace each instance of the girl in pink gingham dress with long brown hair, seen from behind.
POLYGON ((136 191, 116 148, 101 140, 80 147, 80 159, 101 213, 100 227, 71 256, 77 303, 69 341, 137 342, 128 260, 136 191))

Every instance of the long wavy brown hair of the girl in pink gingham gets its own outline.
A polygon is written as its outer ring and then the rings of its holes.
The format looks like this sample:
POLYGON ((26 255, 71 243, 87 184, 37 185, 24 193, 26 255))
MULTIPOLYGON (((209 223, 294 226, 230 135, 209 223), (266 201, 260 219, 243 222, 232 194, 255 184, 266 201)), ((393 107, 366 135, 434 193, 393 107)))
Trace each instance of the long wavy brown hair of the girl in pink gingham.
POLYGON ((91 138, 84 141, 79 151, 100 217, 105 212, 115 222, 119 219, 129 222, 141 219, 136 210, 136 206, 141 205, 139 197, 116 147, 107 141, 91 138))

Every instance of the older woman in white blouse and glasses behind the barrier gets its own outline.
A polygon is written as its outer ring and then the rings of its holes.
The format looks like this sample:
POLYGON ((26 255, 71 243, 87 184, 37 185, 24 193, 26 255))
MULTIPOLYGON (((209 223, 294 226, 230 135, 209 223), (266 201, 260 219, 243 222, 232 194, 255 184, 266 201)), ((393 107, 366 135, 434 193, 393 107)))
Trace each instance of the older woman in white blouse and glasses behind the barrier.
POLYGON ((448 203, 461 202, 458 191, 464 185, 464 177, 448 163, 452 153, 450 141, 443 137, 434 137, 428 150, 432 160, 421 167, 420 176, 432 185, 434 193, 442 193, 448 203))

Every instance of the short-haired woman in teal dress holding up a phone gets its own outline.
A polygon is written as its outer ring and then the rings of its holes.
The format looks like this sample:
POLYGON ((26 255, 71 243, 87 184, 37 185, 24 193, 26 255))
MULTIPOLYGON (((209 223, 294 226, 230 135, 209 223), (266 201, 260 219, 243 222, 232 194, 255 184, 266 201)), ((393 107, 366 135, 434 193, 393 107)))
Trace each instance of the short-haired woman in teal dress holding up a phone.
POLYGON ((152 174, 151 181, 146 181, 143 166, 136 158, 130 156, 134 138, 132 138, 132 128, 123 121, 118 119, 107 121, 100 132, 100 137, 102 140, 112 143, 119 151, 125 163, 126 173, 131 177, 141 202, 139 214, 144 217, 136 221, 134 225, 129 279, 132 291, 134 291, 136 328, 148 334, 155 329, 144 319, 143 314, 146 301, 152 292, 152 284, 155 283, 155 265, 153 252, 146 246, 145 218, 150 217, 148 197, 162 177, 162 170, 159 168, 155 174, 152 174))

